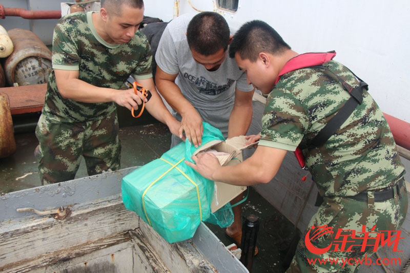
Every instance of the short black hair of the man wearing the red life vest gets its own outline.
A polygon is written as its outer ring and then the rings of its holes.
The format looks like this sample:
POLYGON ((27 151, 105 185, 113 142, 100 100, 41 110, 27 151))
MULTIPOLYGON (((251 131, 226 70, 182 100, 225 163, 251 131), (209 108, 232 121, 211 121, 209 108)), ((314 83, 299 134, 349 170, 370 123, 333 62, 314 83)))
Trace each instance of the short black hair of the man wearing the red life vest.
POLYGON ((235 33, 229 47, 229 56, 235 57, 238 52, 242 59, 254 62, 260 52, 273 55, 281 54, 291 47, 271 26, 261 20, 252 20, 243 24, 235 33))

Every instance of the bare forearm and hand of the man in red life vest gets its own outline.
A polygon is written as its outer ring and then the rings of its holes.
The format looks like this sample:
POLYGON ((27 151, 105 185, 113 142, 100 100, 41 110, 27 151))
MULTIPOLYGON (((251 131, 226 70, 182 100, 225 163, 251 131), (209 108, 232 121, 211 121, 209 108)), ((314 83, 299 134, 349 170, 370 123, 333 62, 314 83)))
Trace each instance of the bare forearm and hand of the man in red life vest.
POLYGON ((269 183, 275 177, 286 155, 286 150, 258 146, 255 153, 240 164, 221 166, 214 154, 192 156, 195 164, 185 161, 203 177, 232 185, 251 186, 269 183))

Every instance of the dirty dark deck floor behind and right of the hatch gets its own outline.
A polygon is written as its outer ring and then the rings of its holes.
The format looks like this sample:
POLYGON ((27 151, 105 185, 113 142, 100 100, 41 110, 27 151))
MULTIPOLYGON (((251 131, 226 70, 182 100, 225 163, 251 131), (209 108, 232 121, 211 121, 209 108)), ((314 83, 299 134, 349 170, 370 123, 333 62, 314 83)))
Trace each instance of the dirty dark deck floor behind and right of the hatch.
MULTIPOLYGON (((169 150, 171 134, 161 124, 134 125, 120 129, 122 144, 121 168, 144 165, 169 150)), ((15 135, 17 151, 14 155, 0 159, 0 194, 42 185, 34 159, 38 144, 33 132, 15 135)), ((76 178, 87 176, 84 160, 81 161, 76 178)), ((285 248, 294 232, 293 225, 263 199, 252 187, 247 201, 242 204, 242 215, 254 214, 259 218, 257 237, 259 254, 254 258, 252 272, 284 272, 282 260, 285 248)), ((232 242, 225 236, 224 229, 207 224, 225 245, 232 242)))

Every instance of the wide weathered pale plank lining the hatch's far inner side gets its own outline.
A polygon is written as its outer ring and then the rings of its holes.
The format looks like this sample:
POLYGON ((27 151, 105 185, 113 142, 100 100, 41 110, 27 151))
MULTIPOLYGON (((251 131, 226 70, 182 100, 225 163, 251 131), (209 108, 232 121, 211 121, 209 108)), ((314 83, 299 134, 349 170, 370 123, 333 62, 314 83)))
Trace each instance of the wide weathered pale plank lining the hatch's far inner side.
POLYGON ((89 205, 74 205, 64 220, 43 217, 27 219, 18 225, 2 227, 0 269, 8 264, 30 260, 138 227, 138 217, 128 211, 120 197, 89 205))

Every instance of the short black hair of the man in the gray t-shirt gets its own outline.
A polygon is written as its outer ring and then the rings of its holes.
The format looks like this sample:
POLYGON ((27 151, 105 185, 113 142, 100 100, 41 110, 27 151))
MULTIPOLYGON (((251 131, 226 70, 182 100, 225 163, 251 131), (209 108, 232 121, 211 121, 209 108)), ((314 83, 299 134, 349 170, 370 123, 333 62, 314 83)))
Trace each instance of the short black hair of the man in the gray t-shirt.
POLYGON ((201 12, 188 24, 189 48, 205 56, 214 54, 221 48, 227 50, 230 35, 227 21, 216 12, 201 12))

